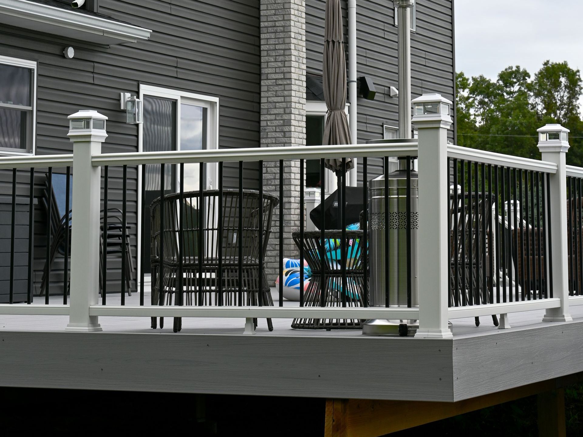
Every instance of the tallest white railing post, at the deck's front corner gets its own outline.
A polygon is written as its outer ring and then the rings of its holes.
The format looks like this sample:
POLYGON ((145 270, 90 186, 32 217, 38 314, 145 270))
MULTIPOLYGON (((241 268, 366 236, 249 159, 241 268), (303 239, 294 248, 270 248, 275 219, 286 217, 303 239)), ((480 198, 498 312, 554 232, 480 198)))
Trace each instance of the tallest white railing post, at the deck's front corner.
POLYGON ((415 337, 447 339, 448 209, 447 129, 451 101, 424 94, 412 101, 419 131, 419 329, 415 337))

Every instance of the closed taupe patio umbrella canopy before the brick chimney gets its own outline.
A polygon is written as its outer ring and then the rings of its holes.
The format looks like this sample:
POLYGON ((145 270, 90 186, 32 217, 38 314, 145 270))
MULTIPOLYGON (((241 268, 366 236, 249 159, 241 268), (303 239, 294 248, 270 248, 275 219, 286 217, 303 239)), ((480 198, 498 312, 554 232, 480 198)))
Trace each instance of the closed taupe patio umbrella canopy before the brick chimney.
MULTIPOLYGON (((324 62, 322 65, 324 100, 328 108, 324 126, 324 145, 350 144, 350 128, 346 118, 346 56, 342 29, 342 8, 340 0, 326 0, 324 30, 324 62)), ((342 160, 327 158, 326 168, 340 175, 353 167, 352 159, 346 158, 346 168, 342 160)))

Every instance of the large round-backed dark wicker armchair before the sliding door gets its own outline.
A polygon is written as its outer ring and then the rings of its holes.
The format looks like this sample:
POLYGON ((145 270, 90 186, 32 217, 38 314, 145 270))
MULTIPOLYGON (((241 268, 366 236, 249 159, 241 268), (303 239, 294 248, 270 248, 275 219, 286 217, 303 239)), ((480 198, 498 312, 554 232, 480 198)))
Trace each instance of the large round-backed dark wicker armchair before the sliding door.
MULTIPOLYGON (((174 305, 248 306, 258 305, 261 297, 264 305, 272 306, 265 272, 259 271, 259 252, 265 257, 273 208, 278 205, 278 198, 264 193, 260 199, 259 192, 243 190, 240 207, 238 190, 223 190, 220 199, 218 190, 203 191, 202 203, 200 194, 199 191, 185 192, 182 196, 172 193, 164 196, 163 207, 160 198, 150 206, 152 305, 171 305, 174 302, 174 305), (219 200, 222 214, 219 214, 219 200), (259 247, 261 209, 262 248, 259 247), (259 290, 259 275, 262 275, 262 290, 259 290)), ((273 330, 271 319, 267 322, 269 330, 273 330)), ((156 329, 156 325, 156 318, 152 318, 152 328, 156 329)), ((163 326, 164 318, 160 318, 160 328, 163 326)), ((174 318, 174 332, 180 330, 181 318, 174 318)))

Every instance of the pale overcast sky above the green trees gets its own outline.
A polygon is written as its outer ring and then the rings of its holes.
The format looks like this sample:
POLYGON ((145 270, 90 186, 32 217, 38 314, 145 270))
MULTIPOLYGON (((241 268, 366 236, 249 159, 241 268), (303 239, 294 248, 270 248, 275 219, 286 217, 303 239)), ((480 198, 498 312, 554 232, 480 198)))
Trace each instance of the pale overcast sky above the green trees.
POLYGON ((583 68, 583 0, 455 0, 455 67, 496 79, 510 65, 531 77, 543 61, 583 68))

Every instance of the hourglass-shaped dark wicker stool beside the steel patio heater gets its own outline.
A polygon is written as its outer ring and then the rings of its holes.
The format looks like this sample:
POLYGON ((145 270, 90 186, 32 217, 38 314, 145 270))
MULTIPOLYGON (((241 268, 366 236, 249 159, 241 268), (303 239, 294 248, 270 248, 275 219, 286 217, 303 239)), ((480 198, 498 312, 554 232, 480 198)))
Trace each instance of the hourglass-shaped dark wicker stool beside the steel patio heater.
MULTIPOLYGON (((325 306, 342 306, 342 295, 346 297, 346 306, 361 307, 364 292, 362 231, 346 231, 346 238, 342 243, 342 231, 325 231, 324 239, 326 258, 324 269, 321 267, 321 232, 304 232, 304 241, 300 240, 300 232, 293 232, 292 237, 296 245, 304 245, 305 260, 312 270, 310 284, 305 292, 304 306, 321 306, 324 294, 325 306), (347 254, 346 290, 342 287, 342 267, 340 263, 340 244, 344 244, 347 254), (337 256, 329 256, 329 252, 336 251, 337 256), (322 274, 324 274, 324 290, 322 290, 322 274)), ((362 329, 363 320, 360 319, 294 319, 291 327, 296 329, 362 329)))

